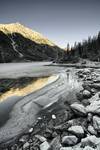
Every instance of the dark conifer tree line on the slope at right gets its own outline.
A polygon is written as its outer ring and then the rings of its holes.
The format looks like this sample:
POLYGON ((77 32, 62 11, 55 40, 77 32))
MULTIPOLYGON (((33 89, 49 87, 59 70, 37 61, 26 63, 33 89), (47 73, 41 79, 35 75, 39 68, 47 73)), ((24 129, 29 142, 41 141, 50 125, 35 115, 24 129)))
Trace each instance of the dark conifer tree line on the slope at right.
POLYGON ((100 61, 100 32, 92 38, 88 37, 82 42, 75 42, 71 48, 69 43, 67 44, 64 60, 77 62, 79 58, 100 61))

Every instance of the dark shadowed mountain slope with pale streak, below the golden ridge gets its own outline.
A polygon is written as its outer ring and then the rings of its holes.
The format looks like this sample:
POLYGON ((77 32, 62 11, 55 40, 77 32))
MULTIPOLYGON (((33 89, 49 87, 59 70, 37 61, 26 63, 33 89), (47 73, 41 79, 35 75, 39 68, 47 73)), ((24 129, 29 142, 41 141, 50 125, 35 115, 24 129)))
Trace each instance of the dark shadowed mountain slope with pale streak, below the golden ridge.
POLYGON ((0 31, 0 63, 19 61, 57 61, 64 51, 57 46, 36 43, 20 33, 0 31))

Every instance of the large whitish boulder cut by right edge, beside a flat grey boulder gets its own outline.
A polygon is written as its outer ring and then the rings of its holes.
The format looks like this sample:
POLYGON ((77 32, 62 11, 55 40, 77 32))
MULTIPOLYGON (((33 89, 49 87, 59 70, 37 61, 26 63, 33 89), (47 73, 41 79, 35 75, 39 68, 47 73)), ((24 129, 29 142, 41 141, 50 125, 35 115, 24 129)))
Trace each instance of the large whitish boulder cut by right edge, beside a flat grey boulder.
POLYGON ((100 101, 94 101, 89 106, 86 107, 88 113, 100 115, 100 101))

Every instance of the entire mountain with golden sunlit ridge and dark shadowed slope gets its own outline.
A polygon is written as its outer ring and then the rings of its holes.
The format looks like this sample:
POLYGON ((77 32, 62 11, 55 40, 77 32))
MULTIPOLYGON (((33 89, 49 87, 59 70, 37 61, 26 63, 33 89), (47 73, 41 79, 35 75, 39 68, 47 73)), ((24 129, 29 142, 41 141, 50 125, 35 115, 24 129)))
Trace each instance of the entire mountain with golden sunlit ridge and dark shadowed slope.
POLYGON ((62 56, 62 49, 41 34, 19 23, 0 25, 0 63, 51 61, 62 56))

